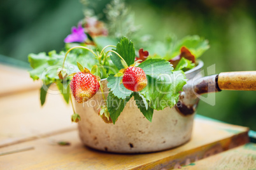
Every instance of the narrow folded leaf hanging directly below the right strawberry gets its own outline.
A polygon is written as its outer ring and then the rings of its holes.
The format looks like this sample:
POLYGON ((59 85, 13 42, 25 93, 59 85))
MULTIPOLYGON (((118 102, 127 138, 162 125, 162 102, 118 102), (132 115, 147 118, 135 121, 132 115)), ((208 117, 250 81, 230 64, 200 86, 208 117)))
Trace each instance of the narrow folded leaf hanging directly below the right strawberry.
POLYGON ((153 108, 148 107, 148 102, 143 100, 142 96, 143 95, 139 95, 139 93, 134 93, 134 100, 141 113, 148 119, 148 121, 152 122, 153 108))

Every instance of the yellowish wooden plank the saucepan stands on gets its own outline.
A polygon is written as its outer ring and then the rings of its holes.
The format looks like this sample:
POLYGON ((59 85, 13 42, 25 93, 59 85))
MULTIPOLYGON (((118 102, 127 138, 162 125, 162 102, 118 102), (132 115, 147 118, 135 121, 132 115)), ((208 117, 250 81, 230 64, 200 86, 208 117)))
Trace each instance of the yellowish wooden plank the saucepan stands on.
POLYGON ((192 140, 150 154, 110 154, 83 147, 77 131, 0 148, 0 169, 171 169, 248 142, 248 128, 196 119, 192 140), (54 142, 53 142, 54 141, 54 142), (68 141, 70 146, 53 145, 68 141))

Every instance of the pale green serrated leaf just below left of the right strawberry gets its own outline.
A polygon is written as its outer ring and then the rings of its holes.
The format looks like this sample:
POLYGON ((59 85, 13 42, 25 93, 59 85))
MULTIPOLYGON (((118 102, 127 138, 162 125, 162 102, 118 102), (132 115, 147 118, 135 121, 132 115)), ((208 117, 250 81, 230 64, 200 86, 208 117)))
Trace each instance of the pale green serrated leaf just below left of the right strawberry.
POLYGON ((117 98, 125 99, 127 96, 130 96, 132 91, 125 88, 124 84, 120 84, 122 77, 115 77, 113 74, 108 76, 108 88, 113 92, 113 95, 117 96, 117 98))

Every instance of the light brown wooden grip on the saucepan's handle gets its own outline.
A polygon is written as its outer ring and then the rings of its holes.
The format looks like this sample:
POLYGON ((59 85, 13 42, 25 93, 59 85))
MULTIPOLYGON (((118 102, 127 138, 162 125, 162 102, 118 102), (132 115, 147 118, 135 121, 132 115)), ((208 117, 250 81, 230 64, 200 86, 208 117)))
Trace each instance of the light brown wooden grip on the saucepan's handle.
POLYGON ((218 75, 218 88, 222 90, 256 91, 256 71, 222 72, 218 75))

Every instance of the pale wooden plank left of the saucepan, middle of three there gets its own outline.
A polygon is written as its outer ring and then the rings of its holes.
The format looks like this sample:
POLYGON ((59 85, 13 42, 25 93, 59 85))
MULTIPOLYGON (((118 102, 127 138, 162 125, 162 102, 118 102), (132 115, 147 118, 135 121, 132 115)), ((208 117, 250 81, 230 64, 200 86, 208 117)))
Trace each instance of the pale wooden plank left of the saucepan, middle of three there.
POLYGON ((47 94, 41 107, 39 90, 0 97, 0 110, 0 147, 77 128, 71 105, 60 95, 47 94))

